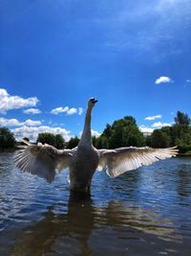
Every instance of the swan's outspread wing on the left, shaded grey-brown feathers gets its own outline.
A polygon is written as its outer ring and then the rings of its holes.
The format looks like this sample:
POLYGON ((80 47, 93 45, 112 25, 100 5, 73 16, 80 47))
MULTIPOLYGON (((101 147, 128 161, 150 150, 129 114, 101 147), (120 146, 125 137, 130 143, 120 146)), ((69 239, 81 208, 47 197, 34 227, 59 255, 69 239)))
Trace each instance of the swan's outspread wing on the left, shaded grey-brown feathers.
POLYGON ((52 182, 55 170, 67 168, 73 150, 57 150, 45 144, 31 145, 25 151, 14 155, 14 164, 24 172, 44 177, 52 182))

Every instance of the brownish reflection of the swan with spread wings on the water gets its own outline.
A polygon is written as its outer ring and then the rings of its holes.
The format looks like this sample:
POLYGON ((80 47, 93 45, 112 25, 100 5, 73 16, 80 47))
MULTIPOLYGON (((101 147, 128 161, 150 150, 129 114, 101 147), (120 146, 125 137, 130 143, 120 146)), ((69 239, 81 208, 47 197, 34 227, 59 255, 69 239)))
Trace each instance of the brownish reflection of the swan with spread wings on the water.
MULTIPOLYGON (((103 208, 95 208, 92 203, 91 198, 81 201, 70 198, 67 214, 54 214, 53 205, 48 207, 41 221, 26 227, 24 232, 17 235, 13 255, 21 255, 23 250, 25 255, 36 255, 36 252, 44 255, 52 250, 60 251, 60 248, 61 251, 71 248, 70 253, 73 252, 74 255, 91 255, 89 239, 93 231, 99 229, 99 243, 102 245, 110 244, 108 236, 118 239, 117 233, 123 240, 138 240, 138 231, 154 234, 167 241, 180 239, 170 220, 162 220, 152 212, 147 213, 132 206, 124 209, 117 202, 110 202, 103 208)), ((62 208, 62 205, 56 207, 62 208)), ((96 249, 94 242, 92 246, 96 249)), ((110 247, 111 244, 108 250, 110 247)), ((122 248, 121 250, 124 252, 122 248)))

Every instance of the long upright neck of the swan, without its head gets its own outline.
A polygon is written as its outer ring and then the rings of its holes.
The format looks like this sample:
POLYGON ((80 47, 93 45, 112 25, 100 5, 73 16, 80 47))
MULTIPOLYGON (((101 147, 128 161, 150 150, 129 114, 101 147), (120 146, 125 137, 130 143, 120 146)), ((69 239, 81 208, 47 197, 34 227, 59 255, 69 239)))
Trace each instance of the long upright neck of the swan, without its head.
POLYGON ((89 106, 86 111, 85 124, 78 146, 92 147, 91 119, 92 107, 89 106))

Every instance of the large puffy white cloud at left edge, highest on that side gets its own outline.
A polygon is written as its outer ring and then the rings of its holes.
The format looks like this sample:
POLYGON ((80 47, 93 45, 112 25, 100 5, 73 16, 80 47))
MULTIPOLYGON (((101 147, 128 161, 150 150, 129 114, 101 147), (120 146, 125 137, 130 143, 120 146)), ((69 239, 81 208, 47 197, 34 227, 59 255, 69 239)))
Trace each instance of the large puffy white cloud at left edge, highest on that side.
POLYGON ((11 96, 6 89, 0 88, 0 113, 6 114, 8 110, 26 106, 35 106, 38 103, 36 97, 24 99, 20 96, 11 96))

